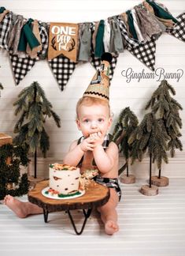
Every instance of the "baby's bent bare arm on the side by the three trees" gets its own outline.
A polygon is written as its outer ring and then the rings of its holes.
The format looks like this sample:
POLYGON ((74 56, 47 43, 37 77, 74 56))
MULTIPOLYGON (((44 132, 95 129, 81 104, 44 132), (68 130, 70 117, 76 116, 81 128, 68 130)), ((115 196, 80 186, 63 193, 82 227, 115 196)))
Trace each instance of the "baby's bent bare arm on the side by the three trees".
POLYGON ((117 161, 117 145, 112 141, 106 150, 103 149, 102 145, 96 145, 93 151, 93 155, 98 170, 102 173, 109 172, 117 161))

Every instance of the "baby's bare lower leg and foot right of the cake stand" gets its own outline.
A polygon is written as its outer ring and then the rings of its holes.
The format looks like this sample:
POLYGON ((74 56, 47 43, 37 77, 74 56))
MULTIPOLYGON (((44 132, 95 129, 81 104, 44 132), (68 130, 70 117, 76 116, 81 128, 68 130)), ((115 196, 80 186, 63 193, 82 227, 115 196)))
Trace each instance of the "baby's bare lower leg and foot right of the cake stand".
POLYGON ((105 224, 105 233, 107 235, 113 235, 119 230, 116 210, 118 201, 117 192, 113 189, 110 189, 109 201, 105 205, 98 208, 102 221, 105 224))

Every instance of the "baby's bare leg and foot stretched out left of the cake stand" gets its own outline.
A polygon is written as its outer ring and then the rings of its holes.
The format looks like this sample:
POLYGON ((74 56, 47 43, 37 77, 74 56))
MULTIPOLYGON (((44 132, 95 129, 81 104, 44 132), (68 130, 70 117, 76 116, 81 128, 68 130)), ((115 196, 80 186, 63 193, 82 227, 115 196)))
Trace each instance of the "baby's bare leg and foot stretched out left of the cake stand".
POLYGON ((19 201, 9 194, 4 198, 4 204, 9 207, 20 218, 25 218, 30 214, 43 213, 43 209, 29 201, 19 201))

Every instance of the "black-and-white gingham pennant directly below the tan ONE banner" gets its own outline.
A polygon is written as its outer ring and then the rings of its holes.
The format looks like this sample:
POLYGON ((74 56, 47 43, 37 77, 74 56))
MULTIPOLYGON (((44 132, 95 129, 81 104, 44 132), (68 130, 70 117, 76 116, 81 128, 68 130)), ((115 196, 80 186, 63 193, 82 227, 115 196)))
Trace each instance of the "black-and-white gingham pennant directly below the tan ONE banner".
POLYGON ((65 58, 62 55, 57 56, 57 58, 53 58, 48 62, 54 73, 54 77, 57 79, 57 83, 61 88, 61 91, 63 91, 65 85, 68 83, 68 79, 74 72, 77 63, 72 62, 70 59, 65 58))

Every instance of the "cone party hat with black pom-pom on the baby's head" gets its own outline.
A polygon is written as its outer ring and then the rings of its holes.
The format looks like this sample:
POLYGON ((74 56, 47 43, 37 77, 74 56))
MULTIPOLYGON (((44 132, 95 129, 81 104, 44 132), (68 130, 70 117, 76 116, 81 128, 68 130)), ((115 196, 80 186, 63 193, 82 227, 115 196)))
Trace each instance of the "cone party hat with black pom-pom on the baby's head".
POLYGON ((91 84, 83 93, 83 97, 94 97, 109 101, 109 65, 112 58, 109 52, 102 55, 101 66, 91 80, 91 84))

